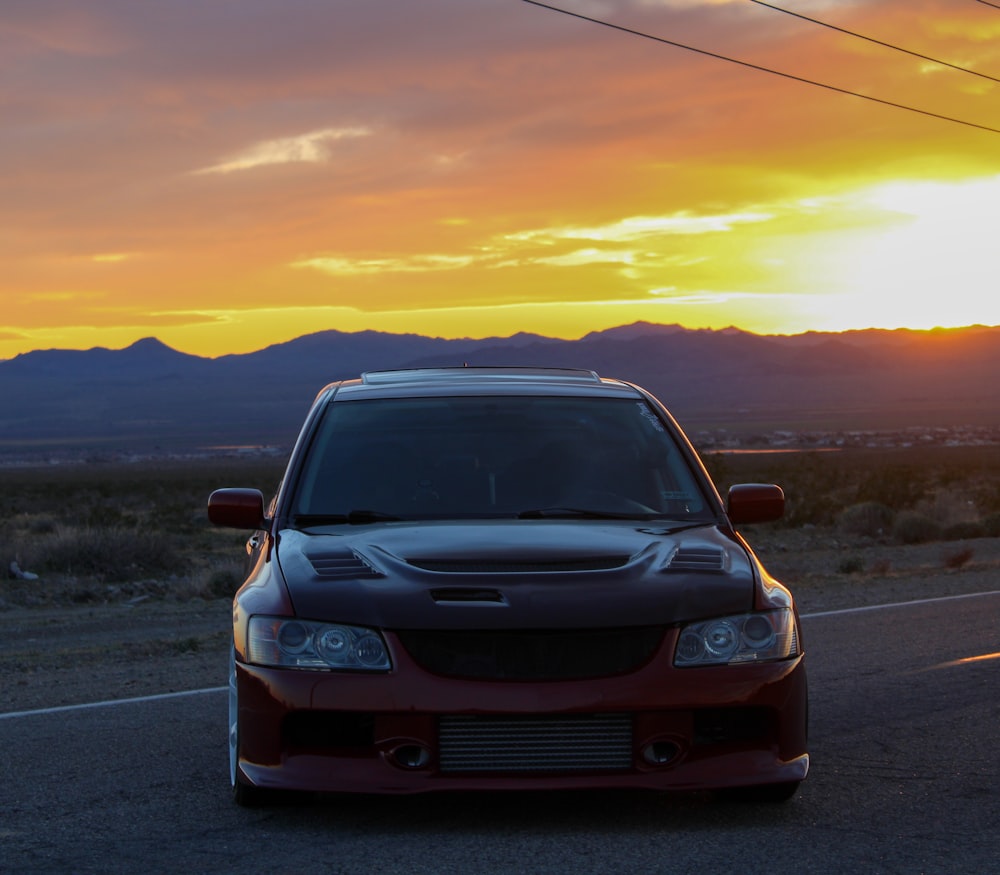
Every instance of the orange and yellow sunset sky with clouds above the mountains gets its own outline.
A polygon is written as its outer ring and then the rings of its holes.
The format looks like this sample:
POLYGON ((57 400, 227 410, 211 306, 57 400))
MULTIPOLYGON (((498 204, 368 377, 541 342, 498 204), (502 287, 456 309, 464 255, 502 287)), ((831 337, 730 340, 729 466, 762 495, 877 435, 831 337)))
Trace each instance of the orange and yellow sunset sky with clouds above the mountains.
POLYGON ((1000 324, 1000 0, 552 5, 831 87, 523 0, 4 0, 0 359, 1000 324))

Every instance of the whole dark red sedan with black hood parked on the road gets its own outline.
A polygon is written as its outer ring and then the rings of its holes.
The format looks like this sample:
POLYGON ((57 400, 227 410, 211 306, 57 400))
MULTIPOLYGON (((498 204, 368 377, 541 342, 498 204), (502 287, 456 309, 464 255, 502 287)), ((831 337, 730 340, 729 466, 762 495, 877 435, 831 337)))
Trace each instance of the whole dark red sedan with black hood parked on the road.
POLYGON ((806 776, 799 621, 664 407, 590 371, 323 389, 233 604, 230 776, 275 790, 715 789, 806 776))

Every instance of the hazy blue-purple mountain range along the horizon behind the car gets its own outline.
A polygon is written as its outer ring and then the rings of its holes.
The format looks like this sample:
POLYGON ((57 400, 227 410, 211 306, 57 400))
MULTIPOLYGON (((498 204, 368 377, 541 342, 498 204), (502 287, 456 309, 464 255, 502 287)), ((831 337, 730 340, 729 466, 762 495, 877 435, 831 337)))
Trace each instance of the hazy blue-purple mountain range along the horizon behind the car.
POLYGON ((579 340, 323 331, 214 359, 147 338, 0 361, 0 452, 287 446, 328 382, 463 363, 582 367, 630 380, 688 431, 1000 426, 1000 328, 785 337, 636 323, 579 340))

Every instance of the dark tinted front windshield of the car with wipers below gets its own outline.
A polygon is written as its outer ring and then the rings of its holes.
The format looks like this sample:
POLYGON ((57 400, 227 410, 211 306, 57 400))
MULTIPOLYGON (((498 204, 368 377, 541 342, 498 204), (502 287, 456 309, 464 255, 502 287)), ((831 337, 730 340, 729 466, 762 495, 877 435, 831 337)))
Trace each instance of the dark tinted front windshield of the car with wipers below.
POLYGON ((639 399, 452 397, 329 405, 292 500, 297 525, 407 519, 711 519, 639 399))

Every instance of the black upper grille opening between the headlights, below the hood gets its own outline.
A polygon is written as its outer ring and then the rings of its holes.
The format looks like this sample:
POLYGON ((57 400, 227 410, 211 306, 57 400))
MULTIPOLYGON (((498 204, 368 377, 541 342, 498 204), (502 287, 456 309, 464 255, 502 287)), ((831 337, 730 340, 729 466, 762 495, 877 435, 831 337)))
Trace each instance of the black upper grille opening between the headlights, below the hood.
POLYGON ((421 668, 442 677, 569 681, 635 671, 653 657, 664 629, 410 630, 397 635, 421 668))

